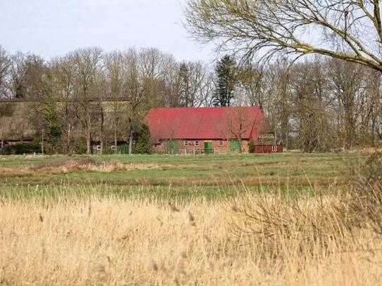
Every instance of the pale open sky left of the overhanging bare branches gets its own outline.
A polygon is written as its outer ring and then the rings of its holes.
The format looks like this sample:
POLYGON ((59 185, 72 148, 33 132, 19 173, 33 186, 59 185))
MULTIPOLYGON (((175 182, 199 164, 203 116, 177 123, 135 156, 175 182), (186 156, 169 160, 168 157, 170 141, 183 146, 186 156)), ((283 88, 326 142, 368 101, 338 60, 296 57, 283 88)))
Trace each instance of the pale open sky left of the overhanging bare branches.
POLYGON ((0 45, 46 59, 85 46, 156 47, 177 60, 215 58, 189 39, 186 0, 0 0, 0 45))

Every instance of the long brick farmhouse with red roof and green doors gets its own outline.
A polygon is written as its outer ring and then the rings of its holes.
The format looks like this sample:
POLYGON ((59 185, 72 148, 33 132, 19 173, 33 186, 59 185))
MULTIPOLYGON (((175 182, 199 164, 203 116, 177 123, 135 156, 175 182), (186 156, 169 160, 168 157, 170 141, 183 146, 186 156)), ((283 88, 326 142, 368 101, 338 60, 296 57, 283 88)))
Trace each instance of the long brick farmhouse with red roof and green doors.
POLYGON ((257 107, 152 108, 145 118, 155 152, 282 152, 257 107))

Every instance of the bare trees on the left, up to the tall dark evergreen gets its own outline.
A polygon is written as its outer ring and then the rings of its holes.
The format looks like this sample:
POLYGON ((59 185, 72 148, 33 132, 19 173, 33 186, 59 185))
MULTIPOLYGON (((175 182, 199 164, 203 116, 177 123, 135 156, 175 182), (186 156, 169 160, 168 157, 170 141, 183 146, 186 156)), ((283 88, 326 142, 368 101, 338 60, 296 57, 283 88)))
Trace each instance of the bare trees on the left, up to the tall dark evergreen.
POLYGON ((101 142, 102 152, 110 138, 131 148, 149 108, 208 105, 210 77, 203 63, 178 63, 155 48, 112 53, 82 48, 49 62, 0 48, 0 97, 31 101, 18 104, 25 113, 13 122, 9 114, 0 115, 1 125, 14 134, 11 123, 20 130, 21 122, 30 122, 40 137, 46 132, 51 152, 70 154, 84 143, 90 153, 92 141, 101 142))

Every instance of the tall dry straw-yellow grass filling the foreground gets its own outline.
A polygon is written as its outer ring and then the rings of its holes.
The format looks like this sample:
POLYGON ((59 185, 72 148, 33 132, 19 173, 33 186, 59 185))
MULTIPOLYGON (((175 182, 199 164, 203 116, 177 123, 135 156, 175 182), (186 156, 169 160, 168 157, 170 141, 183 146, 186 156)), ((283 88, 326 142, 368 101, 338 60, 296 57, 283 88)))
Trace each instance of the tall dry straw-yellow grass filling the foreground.
POLYGON ((0 285, 379 285, 381 239, 343 227, 338 207, 337 195, 3 199, 0 285))

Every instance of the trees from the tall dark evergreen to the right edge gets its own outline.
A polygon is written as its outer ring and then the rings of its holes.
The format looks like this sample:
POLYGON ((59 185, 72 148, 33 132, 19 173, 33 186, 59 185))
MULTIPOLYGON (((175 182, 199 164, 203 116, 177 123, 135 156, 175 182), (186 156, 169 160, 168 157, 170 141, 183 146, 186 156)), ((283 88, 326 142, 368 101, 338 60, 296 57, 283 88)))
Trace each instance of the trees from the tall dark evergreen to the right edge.
POLYGON ((256 105, 286 148, 351 149, 382 140, 381 72, 336 58, 217 63, 215 105, 256 105))

